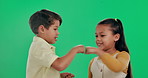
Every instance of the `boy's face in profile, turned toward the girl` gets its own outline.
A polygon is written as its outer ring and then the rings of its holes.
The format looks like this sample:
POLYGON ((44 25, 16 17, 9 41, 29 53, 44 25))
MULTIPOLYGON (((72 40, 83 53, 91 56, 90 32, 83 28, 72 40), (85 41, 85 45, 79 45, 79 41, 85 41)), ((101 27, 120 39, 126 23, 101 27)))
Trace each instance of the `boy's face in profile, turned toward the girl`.
POLYGON ((44 32, 42 33, 42 38, 47 41, 49 44, 54 44, 57 41, 59 32, 60 22, 59 20, 54 20, 54 24, 52 24, 48 29, 44 28, 44 32))

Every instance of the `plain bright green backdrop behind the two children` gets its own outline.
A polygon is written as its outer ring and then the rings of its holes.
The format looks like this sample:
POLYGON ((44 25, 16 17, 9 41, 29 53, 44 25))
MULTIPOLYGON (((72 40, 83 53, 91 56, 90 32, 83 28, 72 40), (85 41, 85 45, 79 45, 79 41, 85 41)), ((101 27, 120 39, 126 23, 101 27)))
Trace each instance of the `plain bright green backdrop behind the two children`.
MULTIPOLYGON (((79 44, 95 45, 96 24, 105 18, 123 22, 131 52, 134 78, 148 78, 147 0, 0 0, 0 78, 25 78, 28 50, 34 34, 30 16, 41 9, 61 15, 56 53, 63 56, 79 44)), ((77 54, 62 72, 87 78, 88 65, 96 55, 77 54)))

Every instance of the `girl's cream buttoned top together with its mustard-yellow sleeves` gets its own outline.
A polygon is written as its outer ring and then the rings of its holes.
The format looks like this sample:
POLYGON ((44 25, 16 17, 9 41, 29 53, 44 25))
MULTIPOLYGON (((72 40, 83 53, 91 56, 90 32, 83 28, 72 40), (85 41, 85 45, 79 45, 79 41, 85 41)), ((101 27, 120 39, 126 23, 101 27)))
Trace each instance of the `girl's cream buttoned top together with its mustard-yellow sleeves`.
POLYGON ((127 52, 105 53, 95 57, 89 67, 92 78, 125 78, 130 56, 127 52))

